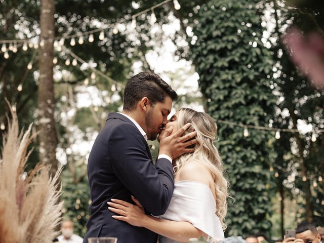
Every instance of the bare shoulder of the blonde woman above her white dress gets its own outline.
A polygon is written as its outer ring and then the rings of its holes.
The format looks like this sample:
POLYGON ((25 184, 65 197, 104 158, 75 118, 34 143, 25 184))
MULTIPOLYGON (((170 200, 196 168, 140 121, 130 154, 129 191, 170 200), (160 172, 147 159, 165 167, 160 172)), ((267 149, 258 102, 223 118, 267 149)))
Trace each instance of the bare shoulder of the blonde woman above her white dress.
POLYGON ((177 181, 197 181, 210 185, 213 177, 209 170, 196 160, 189 160, 176 175, 177 181))

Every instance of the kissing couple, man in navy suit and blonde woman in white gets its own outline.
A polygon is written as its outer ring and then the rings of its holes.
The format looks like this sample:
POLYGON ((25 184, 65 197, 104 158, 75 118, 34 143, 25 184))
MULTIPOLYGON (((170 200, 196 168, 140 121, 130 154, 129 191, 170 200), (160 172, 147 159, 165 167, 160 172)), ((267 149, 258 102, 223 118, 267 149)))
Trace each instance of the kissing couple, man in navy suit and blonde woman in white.
POLYGON ((210 115, 180 109, 177 93, 158 75, 141 72, 124 90, 123 112, 109 113, 88 161, 88 237, 118 243, 175 243, 224 238, 228 182, 214 145, 210 115), (158 135, 153 163, 147 140, 158 135))

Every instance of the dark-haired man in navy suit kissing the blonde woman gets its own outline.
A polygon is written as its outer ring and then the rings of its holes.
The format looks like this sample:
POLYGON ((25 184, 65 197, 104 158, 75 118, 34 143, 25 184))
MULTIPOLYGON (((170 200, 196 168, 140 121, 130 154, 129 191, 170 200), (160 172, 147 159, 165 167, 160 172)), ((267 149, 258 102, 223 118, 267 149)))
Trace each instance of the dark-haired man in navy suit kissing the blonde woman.
MULTIPOLYGON (((108 115, 89 156, 92 203, 84 243, 88 243, 88 237, 99 236, 117 237, 118 243, 156 242, 154 232, 113 219, 107 202, 116 198, 133 203, 133 195, 147 214, 165 213, 174 188, 172 159, 191 152, 187 146, 194 140, 179 142, 181 134, 170 135, 172 128, 164 131, 159 136, 155 166, 147 140, 155 140, 164 130, 177 98, 176 92, 154 73, 141 72, 127 83, 123 113, 108 115)), ((185 125, 182 132, 189 127, 185 125)))

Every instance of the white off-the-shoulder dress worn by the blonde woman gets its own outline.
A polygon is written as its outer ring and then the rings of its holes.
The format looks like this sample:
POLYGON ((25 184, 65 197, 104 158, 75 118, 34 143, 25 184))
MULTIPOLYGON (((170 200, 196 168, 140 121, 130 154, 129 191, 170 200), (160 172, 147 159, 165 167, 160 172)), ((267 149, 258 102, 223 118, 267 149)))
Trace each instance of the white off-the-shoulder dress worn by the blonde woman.
MULTIPOLYGON (((208 242, 224 239, 224 232, 216 216, 216 203, 209 186, 196 181, 178 181, 175 183, 173 196, 163 219, 187 221, 209 235, 208 242)), ((160 243, 178 243, 162 235, 160 243)))

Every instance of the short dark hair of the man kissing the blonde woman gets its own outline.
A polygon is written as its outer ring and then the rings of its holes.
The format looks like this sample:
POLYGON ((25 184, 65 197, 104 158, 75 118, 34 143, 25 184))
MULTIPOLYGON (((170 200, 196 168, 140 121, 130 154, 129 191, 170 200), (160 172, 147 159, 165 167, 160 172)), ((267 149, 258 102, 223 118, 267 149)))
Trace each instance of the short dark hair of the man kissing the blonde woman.
POLYGON ((140 72, 133 76, 125 87, 123 110, 133 110, 143 97, 147 97, 152 106, 156 102, 163 103, 167 95, 173 101, 178 99, 177 93, 159 75, 140 72))

